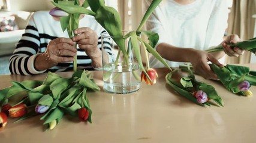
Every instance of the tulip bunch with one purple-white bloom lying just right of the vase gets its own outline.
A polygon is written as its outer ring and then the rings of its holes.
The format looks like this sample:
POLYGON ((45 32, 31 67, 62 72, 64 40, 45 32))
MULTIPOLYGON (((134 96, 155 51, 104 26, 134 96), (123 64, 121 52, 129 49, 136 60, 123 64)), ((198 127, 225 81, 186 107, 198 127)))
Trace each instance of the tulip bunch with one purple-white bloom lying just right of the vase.
POLYGON ((211 100, 223 106, 223 101, 215 91, 215 88, 196 80, 189 67, 188 76, 182 77, 179 82, 172 78, 173 74, 177 72, 179 72, 177 69, 171 71, 165 76, 165 80, 178 94, 201 106, 210 106, 211 100))

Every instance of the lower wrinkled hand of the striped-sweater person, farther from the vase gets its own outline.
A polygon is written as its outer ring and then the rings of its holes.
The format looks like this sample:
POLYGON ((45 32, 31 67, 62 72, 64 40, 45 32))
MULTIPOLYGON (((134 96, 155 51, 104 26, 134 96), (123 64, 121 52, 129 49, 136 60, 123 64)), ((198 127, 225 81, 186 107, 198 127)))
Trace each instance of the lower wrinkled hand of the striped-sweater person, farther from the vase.
POLYGON ((44 56, 47 61, 56 66, 58 63, 74 61, 77 49, 74 47, 75 42, 70 38, 56 38, 50 41, 44 56))

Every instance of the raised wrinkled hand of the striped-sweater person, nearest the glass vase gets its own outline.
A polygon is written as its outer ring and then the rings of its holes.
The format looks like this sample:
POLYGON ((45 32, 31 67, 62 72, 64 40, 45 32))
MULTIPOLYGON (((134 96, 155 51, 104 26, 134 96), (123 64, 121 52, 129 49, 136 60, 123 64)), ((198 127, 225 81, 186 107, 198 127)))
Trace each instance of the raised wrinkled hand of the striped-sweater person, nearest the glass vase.
POLYGON ((84 49, 86 54, 94 60, 94 58, 101 57, 100 48, 98 48, 98 36, 97 33, 88 28, 82 27, 74 31, 77 36, 74 36, 73 41, 79 44, 79 48, 84 49))

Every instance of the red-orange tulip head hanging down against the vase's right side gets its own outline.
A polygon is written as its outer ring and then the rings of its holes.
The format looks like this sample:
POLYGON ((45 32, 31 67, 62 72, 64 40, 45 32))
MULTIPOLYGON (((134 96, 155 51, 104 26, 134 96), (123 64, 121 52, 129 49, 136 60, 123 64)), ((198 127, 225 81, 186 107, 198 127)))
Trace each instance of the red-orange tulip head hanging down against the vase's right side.
POLYGON ((155 69, 149 68, 147 69, 147 74, 149 75, 151 81, 147 79, 147 76, 144 72, 141 73, 140 80, 143 82, 143 80, 146 82, 147 85, 153 85, 156 83, 156 78, 158 77, 158 74, 155 69))

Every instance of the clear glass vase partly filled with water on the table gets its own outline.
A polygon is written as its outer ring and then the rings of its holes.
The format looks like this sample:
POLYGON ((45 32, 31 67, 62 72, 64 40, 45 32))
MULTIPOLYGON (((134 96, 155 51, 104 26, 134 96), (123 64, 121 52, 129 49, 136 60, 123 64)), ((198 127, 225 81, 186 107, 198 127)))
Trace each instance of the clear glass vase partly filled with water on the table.
MULTIPOLYGON (((129 37, 112 37, 101 34, 101 51, 103 55, 103 89, 114 94, 128 94, 138 91, 141 86, 140 66, 132 52, 129 37), (113 39, 123 39, 123 49, 113 39)), ((122 40, 121 40, 122 41, 122 40)))

